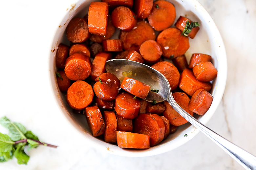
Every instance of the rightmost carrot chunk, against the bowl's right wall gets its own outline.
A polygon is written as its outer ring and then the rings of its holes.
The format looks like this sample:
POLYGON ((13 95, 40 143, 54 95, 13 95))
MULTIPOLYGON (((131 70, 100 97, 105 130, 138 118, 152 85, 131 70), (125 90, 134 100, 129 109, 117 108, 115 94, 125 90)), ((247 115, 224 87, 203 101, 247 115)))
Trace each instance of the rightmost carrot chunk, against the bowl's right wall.
POLYGON ((218 71, 210 61, 201 61, 193 67, 193 73, 197 80, 209 82, 217 77, 218 71))

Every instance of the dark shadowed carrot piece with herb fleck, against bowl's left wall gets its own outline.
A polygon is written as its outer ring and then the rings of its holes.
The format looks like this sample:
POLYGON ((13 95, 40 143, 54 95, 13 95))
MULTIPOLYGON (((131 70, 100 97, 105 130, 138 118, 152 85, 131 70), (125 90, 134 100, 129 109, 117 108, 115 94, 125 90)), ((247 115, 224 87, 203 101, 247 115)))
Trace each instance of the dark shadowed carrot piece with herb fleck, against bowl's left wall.
POLYGON ((57 71, 56 77, 59 90, 61 92, 67 92, 68 88, 71 86, 71 81, 68 79, 65 72, 62 70, 57 71))

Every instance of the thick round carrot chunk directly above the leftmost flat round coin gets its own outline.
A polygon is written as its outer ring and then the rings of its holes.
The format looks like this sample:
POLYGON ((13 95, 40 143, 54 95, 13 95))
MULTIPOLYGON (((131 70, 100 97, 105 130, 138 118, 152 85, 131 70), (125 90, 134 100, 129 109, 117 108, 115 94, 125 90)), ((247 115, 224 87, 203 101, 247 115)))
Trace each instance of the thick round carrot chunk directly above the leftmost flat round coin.
POLYGON ((69 56, 65 65, 66 76, 71 80, 84 80, 92 71, 90 58, 79 53, 69 56))

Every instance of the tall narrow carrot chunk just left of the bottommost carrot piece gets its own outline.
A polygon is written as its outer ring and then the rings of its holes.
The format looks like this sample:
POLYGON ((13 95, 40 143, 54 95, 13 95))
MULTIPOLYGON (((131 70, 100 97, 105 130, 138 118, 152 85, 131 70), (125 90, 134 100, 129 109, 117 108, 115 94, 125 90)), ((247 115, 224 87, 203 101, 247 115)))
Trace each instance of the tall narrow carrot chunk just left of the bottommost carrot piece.
POLYGON ((117 143, 117 119, 114 111, 103 111, 106 124, 104 141, 107 143, 117 143))

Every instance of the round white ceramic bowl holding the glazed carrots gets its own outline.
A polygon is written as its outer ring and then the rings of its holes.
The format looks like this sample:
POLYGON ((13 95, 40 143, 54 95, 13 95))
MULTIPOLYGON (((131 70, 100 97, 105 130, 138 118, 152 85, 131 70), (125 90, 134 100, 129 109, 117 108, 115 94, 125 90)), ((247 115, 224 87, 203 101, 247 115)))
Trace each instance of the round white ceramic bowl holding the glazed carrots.
MULTIPOLYGON (((192 21, 198 21, 201 25, 196 37, 194 39, 189 38, 190 48, 185 53, 187 60, 189 61, 193 53, 209 54, 212 56, 212 62, 218 70, 218 76, 213 81, 213 88, 211 90, 211 93, 213 95, 212 105, 205 115, 197 116, 200 122, 206 124, 217 109, 224 93, 227 77, 227 60, 224 43, 219 33, 219 30, 213 22, 212 18, 199 2, 197 2, 196 0, 169 1, 172 2, 176 8, 177 17, 175 22, 177 21, 179 16, 182 15, 186 16, 192 21)), ((153 146, 149 149, 122 149, 115 144, 108 144, 104 142, 101 138, 93 137, 87 125, 85 116, 77 115, 72 112, 72 109, 66 102, 65 94, 60 93, 56 83, 56 47, 61 42, 65 44, 70 44, 65 35, 66 26, 73 17, 84 17, 84 15, 88 12, 91 2, 92 0, 79 0, 78 2, 75 2, 73 8, 67 10, 66 15, 63 17, 63 20, 60 21, 60 26, 56 28, 57 30, 53 38, 52 46, 50 49, 51 52, 49 60, 49 74, 52 83, 53 95, 57 100, 60 110, 63 112, 63 114, 72 124, 72 126, 74 126, 78 131, 81 132, 82 135, 84 135, 85 138, 87 138, 88 144, 90 143, 91 146, 112 154, 131 157, 151 156, 170 151, 188 142, 199 132, 198 129, 196 129, 189 123, 179 127, 177 132, 169 135, 169 137, 162 141, 160 144, 153 146), (184 134, 187 134, 187 137, 184 137, 184 134)))

